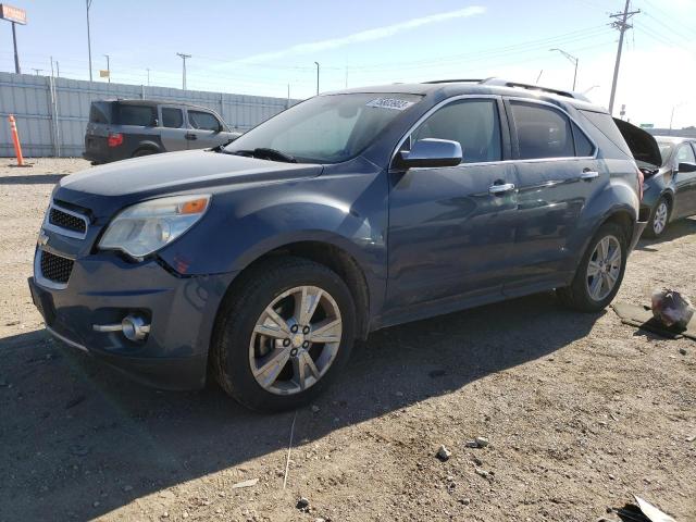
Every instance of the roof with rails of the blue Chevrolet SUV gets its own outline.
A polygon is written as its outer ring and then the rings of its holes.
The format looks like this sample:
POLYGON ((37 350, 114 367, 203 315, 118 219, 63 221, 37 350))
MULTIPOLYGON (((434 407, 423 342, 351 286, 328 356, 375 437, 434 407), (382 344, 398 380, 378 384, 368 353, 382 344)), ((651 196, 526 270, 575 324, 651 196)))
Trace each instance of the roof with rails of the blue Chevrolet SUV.
POLYGON ((339 94, 402 94, 402 95, 420 95, 449 98, 461 95, 497 95, 515 98, 530 98, 535 100, 547 101, 557 105, 572 105, 576 109, 583 109, 593 112, 608 111, 601 107, 592 103, 585 96, 580 92, 564 91, 551 89, 537 85, 510 82, 502 78, 485 78, 485 79, 438 79, 433 82, 412 83, 412 84, 387 84, 371 87, 357 87, 351 89, 336 90, 326 92, 321 96, 332 96, 339 94))

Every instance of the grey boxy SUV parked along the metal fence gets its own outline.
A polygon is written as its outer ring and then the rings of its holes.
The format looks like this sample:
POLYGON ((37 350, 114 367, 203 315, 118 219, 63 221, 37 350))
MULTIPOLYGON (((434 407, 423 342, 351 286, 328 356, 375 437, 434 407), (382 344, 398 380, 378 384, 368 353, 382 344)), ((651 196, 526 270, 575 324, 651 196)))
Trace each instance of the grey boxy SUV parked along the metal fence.
POLYGON ((83 157, 92 164, 226 145, 233 133, 204 107, 151 100, 92 101, 83 157))

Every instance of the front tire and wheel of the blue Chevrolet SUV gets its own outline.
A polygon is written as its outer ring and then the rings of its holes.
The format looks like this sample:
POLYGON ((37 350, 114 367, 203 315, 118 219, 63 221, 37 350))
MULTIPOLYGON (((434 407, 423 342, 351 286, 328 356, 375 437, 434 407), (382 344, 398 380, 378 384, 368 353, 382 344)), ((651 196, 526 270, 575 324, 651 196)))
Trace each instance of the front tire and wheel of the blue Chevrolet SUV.
POLYGON ((313 400, 340 372, 355 336, 353 299, 335 272, 302 258, 272 259, 245 274, 223 301, 212 369, 222 388, 247 408, 295 409, 313 400), (318 295, 315 312, 302 316, 297 299, 310 303, 304 297, 318 295), (337 326, 320 332, 336 320, 337 326), (274 359, 281 364, 271 363, 274 359))

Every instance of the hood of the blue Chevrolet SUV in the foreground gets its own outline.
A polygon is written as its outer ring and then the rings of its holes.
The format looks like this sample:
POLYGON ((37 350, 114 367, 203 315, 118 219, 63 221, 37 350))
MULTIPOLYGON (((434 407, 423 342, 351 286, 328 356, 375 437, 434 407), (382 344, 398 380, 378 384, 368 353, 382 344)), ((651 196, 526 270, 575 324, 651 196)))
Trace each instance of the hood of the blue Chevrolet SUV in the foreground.
POLYGON ((114 207, 117 210, 158 195, 314 177, 322 169, 208 150, 167 152, 71 174, 60 181, 53 197, 90 209, 95 215, 111 215, 114 207))

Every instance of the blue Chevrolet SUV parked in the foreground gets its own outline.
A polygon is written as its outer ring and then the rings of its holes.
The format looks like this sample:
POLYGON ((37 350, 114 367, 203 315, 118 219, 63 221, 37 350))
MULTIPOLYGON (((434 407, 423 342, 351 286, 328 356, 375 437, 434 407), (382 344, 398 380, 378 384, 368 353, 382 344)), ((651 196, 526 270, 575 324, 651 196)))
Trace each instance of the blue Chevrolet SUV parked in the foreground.
POLYGON ((639 198, 622 134, 580 95, 352 89, 224 148, 62 178, 29 286, 52 335, 141 381, 210 375, 247 407, 295 408, 378 328, 549 289, 602 310, 639 198))

